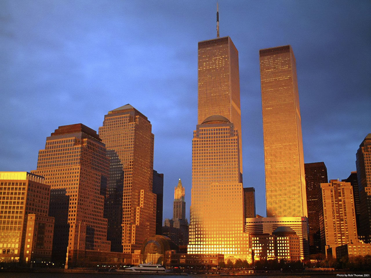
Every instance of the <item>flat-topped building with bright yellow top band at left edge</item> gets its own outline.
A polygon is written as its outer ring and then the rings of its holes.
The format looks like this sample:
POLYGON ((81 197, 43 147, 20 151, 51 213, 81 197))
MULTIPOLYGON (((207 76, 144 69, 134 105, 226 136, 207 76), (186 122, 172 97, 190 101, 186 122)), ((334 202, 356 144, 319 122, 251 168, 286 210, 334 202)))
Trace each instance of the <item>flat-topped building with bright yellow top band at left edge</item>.
POLYGON ((0 172, 0 262, 41 263, 52 257, 50 185, 28 172, 0 172))

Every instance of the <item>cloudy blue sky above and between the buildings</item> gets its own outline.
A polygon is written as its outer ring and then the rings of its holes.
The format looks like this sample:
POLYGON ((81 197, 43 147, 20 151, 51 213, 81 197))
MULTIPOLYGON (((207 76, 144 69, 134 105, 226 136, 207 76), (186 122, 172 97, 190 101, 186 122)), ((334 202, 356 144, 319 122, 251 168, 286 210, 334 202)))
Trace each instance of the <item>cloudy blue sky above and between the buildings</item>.
MULTIPOLYGON (((369 0, 219 1, 220 36, 239 51, 243 186, 266 216, 259 49, 290 44, 296 58, 304 162, 329 179, 356 171, 371 133, 369 0)), ((216 1, 0 1, 0 171, 36 169, 58 126, 97 130, 127 103, 148 117, 163 218, 174 187, 191 203, 197 124, 197 42, 216 37, 216 1)))

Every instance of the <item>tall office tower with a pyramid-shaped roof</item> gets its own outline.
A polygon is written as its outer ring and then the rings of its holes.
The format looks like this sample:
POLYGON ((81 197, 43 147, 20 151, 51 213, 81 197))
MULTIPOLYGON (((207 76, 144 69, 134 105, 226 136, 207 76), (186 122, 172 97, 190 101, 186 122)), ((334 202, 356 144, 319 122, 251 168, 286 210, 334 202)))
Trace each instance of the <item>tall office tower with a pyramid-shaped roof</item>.
POLYGON ((152 192, 154 135, 150 121, 127 104, 104 116, 99 136, 111 159, 107 198, 123 192, 122 203, 105 208, 109 239, 114 250, 134 253, 146 238, 155 235, 156 194, 152 192), (112 163, 113 162, 113 163, 112 163), (115 240, 118 238, 119 240, 115 240))

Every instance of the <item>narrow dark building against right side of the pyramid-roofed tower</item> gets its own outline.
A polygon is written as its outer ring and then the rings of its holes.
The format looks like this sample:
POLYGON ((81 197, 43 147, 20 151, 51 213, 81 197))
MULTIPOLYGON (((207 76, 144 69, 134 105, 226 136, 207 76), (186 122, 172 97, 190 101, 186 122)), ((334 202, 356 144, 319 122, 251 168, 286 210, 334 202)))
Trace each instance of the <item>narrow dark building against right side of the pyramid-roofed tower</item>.
POLYGON ((162 212, 164 207, 164 174, 153 170, 152 192, 156 194, 156 235, 162 235, 162 212))

